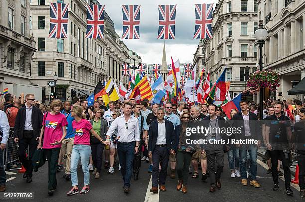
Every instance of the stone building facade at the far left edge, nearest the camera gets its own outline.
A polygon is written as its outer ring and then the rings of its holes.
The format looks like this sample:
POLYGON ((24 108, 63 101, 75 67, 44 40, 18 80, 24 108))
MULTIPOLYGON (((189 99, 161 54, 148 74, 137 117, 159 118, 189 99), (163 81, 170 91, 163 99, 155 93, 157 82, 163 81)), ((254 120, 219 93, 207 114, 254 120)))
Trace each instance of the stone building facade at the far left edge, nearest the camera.
MULTIPOLYGON (((29 0, 0 1, 0 92, 31 92, 31 57, 36 43, 30 33, 29 0), (28 91, 24 91, 27 89, 28 91)), ((37 98, 39 96, 37 95, 37 98)))

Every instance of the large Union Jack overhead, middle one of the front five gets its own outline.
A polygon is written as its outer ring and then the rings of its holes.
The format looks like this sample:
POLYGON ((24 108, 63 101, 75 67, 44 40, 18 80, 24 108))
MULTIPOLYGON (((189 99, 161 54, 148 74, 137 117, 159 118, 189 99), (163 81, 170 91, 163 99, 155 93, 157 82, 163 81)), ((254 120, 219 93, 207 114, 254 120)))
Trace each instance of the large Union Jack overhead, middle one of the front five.
POLYGON ((122 39, 140 39, 140 5, 122 5, 122 39))

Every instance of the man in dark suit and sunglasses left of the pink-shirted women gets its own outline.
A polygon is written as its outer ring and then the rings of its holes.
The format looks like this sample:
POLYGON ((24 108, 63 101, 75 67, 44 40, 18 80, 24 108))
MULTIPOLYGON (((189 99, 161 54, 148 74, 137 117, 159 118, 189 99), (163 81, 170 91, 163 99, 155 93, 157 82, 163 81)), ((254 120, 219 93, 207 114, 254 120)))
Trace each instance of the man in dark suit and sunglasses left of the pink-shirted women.
POLYGON ((26 103, 24 107, 18 110, 13 134, 14 141, 19 142, 18 155, 26 169, 23 177, 26 178, 27 183, 32 182, 33 165, 31 159, 39 142, 43 119, 40 109, 34 106, 35 100, 34 94, 25 96, 26 103), (29 159, 26 158, 25 154, 28 147, 29 159))

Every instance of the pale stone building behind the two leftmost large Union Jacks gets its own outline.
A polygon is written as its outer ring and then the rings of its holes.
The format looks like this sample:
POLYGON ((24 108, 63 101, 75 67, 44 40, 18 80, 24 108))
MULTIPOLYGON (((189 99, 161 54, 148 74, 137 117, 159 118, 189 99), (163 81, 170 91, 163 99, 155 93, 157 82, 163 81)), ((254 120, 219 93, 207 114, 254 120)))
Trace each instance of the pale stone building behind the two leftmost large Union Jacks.
POLYGON ((114 23, 105 12, 104 39, 87 39, 87 3, 97 0, 60 0, 69 4, 68 38, 48 38, 50 28, 50 3, 59 0, 31 0, 31 32, 37 52, 32 60, 33 83, 44 88, 43 96, 54 87, 48 86, 58 75, 57 98, 72 100, 93 93, 99 80, 113 78, 126 82, 122 76, 122 63, 129 57, 128 48, 116 34, 114 23))

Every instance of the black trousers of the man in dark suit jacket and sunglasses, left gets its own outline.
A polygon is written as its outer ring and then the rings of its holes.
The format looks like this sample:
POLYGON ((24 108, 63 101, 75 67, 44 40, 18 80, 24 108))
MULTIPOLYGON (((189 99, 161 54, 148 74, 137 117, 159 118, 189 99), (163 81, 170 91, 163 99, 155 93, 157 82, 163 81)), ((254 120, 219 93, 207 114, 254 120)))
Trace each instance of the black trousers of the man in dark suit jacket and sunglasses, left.
POLYGON ((24 166, 24 168, 26 169, 26 174, 31 177, 33 176, 33 169, 34 169, 31 159, 35 152, 35 149, 37 148, 37 145, 38 142, 34 137, 30 139, 23 138, 19 141, 19 149, 18 149, 19 159, 22 165, 24 166), (25 155, 27 147, 29 147, 28 159, 26 158, 25 155))

